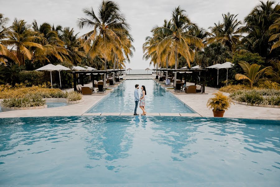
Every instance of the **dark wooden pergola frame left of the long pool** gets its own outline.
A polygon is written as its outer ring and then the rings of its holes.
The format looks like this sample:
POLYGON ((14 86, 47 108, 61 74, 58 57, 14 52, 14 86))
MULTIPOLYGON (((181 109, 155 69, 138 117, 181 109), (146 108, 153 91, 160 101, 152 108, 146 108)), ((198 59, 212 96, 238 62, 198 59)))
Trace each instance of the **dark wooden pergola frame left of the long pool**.
POLYGON ((77 85, 77 81, 80 80, 80 83, 82 84, 82 86, 84 85, 84 79, 88 76, 92 77, 92 87, 94 87, 94 77, 96 77, 96 75, 98 74, 108 74, 108 73, 113 73, 113 72, 121 72, 121 71, 125 71, 124 69, 122 70, 84 70, 84 71, 73 71, 73 82, 74 82, 74 91, 77 91, 76 85, 77 85), (77 74, 79 74, 80 76, 77 77, 77 74))

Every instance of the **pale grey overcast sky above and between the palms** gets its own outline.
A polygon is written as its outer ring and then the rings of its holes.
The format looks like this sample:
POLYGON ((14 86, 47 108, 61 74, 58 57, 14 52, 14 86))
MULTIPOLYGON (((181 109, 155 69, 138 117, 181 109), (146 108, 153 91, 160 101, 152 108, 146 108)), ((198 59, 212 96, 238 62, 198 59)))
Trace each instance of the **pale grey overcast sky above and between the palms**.
MULTIPOLYGON (((63 27, 74 27, 75 31, 82 35, 89 31, 89 29, 79 30, 77 27, 77 19, 84 17, 82 9, 93 7, 97 10, 101 0, 0 0, 0 2, 0 13, 10 18, 9 26, 15 17, 24 19, 29 24, 36 19, 38 24, 49 22, 63 27)), ((131 25, 136 51, 126 68, 132 69, 149 67, 149 61, 142 60, 142 44, 145 37, 150 35, 153 26, 162 25, 164 19, 170 19, 175 7, 180 5, 193 22, 207 29, 214 22, 222 21, 222 13, 238 14, 238 20, 243 20, 252 8, 259 4, 258 0, 119 0, 115 2, 119 3, 121 11, 131 25)))

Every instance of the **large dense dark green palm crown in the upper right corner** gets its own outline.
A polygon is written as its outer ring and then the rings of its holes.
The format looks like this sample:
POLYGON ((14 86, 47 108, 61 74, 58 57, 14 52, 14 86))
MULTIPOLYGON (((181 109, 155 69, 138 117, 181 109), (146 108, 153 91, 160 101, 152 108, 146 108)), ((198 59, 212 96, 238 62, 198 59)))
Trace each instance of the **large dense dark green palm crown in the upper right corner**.
POLYGON ((245 26, 239 30, 247 34, 241 41, 244 47, 241 46, 240 49, 267 57, 273 45, 272 42, 269 42, 271 36, 269 27, 279 18, 279 14, 280 5, 276 4, 275 1, 260 2, 254 7, 250 14, 244 18, 245 26))

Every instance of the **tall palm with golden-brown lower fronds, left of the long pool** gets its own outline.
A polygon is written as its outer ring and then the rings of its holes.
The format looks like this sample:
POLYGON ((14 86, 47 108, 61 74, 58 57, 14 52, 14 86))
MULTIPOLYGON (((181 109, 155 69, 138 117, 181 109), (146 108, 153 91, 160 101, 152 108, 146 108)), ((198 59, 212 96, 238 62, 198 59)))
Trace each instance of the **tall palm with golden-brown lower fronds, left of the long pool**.
MULTIPOLYGON (((112 58, 113 48, 121 48, 120 36, 128 33, 130 27, 120 12, 119 5, 113 1, 103 0, 97 15, 92 7, 83 9, 83 12, 88 18, 80 18, 78 26, 80 29, 85 26, 93 28, 92 31, 84 35, 84 49, 91 58, 101 54, 106 70, 106 63, 112 58)), ((104 74, 104 85, 106 86, 106 74, 104 74)))

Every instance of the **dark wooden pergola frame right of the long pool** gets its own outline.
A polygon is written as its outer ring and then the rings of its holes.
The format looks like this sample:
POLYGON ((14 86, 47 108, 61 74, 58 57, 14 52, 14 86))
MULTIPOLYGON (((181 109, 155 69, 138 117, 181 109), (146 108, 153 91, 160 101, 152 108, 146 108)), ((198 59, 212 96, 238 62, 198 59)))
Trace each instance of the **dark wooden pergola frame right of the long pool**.
MULTIPOLYGON (((195 74, 195 76, 201 78, 203 81, 202 83, 202 93, 205 93, 205 80, 206 80, 206 77, 205 77, 205 72, 208 71, 206 69, 153 69, 153 70, 156 70, 156 71, 168 71, 168 72, 171 72, 171 73, 174 73, 174 72, 188 72, 188 73, 191 73, 191 74, 195 74), (204 72, 204 74, 199 74, 199 72, 204 72)), ((185 76, 185 83, 186 83, 186 76, 185 76)), ((195 81, 194 84, 197 84, 197 80, 195 81)))

